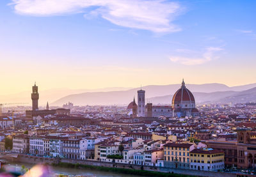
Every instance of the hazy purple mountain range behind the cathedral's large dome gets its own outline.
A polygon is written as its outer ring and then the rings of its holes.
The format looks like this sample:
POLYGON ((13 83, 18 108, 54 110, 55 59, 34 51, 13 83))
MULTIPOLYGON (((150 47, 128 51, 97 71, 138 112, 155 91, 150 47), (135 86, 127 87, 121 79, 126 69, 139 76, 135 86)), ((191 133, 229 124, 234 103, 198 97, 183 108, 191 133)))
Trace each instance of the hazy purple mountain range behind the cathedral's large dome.
MULTIPOLYGON (((244 103, 256 102, 256 83, 243 86, 228 87, 225 84, 186 84, 195 96, 196 103, 244 103)), ((172 95, 180 88, 180 84, 165 86, 145 86, 146 103, 171 104, 172 95)), ((96 91, 64 96, 51 105, 62 105, 72 102, 74 105, 127 105, 137 97, 140 88, 121 91, 96 91)))

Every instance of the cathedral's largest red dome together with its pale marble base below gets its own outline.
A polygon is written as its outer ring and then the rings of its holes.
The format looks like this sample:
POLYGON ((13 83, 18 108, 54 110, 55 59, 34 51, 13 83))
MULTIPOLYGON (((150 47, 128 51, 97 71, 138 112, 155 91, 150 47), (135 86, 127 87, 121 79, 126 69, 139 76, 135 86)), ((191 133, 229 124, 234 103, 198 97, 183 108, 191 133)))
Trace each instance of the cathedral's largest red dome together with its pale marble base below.
POLYGON ((195 107, 195 98, 191 91, 186 88, 184 80, 180 89, 176 91, 172 98, 173 116, 197 116, 198 109, 195 107))

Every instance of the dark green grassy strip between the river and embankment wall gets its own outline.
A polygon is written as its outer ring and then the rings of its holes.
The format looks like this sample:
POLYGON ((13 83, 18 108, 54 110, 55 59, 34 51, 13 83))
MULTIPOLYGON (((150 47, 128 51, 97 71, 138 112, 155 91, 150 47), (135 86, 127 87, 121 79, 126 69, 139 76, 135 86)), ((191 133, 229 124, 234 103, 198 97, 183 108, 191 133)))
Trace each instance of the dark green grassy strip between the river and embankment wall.
POLYGON ((76 169, 93 169, 99 171, 108 171, 112 173, 122 173, 122 174, 132 174, 139 176, 155 176, 155 177, 195 177, 187 174, 174 174, 174 173, 163 173, 158 171, 145 171, 138 169, 125 169, 125 168, 115 168, 115 167, 101 167, 93 165, 84 165, 84 164, 70 164, 65 162, 60 162, 58 164, 52 164, 53 166, 59 167, 70 167, 76 169))

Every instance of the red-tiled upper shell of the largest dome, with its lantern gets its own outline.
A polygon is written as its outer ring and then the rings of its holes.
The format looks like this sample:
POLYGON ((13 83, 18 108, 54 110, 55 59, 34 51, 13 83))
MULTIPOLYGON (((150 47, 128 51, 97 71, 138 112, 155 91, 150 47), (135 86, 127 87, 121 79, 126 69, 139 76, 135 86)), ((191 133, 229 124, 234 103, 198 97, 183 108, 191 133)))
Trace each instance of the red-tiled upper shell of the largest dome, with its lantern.
POLYGON ((172 98, 172 104, 179 104, 180 102, 195 102, 195 98, 191 91, 186 88, 184 81, 180 89, 176 91, 172 98))

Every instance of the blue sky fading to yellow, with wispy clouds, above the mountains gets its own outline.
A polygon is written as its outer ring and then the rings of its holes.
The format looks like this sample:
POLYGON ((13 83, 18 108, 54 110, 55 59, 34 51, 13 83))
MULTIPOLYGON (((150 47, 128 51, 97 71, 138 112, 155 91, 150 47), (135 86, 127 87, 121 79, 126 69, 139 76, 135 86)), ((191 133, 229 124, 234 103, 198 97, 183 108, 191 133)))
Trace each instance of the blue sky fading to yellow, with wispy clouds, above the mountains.
POLYGON ((1 0, 0 95, 256 82, 256 1, 1 0))

